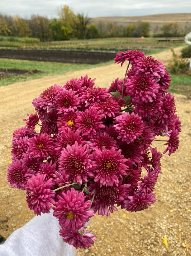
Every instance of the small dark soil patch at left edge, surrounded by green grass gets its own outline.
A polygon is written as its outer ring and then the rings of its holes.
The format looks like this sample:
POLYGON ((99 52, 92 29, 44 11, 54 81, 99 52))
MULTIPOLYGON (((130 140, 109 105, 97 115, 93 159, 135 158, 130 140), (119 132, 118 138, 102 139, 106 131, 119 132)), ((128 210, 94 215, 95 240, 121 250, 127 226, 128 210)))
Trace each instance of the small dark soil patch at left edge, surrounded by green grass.
POLYGON ((30 76, 34 73, 39 73, 37 69, 27 70, 27 69, 16 69, 16 68, 0 68, 0 80, 10 77, 10 76, 30 76))

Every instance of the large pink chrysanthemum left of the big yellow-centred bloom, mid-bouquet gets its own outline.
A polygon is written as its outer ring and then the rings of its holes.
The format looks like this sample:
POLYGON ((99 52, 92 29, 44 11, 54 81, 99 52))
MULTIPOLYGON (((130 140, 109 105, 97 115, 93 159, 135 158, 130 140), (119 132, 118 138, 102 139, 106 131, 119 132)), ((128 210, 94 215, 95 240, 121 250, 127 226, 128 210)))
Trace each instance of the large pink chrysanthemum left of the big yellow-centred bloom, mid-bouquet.
POLYGON ((67 145, 63 148, 59 157, 59 169, 65 170, 70 179, 78 182, 87 181, 88 178, 94 177, 93 170, 94 161, 87 145, 67 145))

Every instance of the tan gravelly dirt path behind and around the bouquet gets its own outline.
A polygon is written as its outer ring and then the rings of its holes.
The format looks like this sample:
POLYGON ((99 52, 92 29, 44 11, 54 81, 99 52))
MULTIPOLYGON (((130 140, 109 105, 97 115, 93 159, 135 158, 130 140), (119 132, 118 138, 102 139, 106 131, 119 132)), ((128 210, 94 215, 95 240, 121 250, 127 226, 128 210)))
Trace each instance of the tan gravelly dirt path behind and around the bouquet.
MULTIPOLYGON (((176 48, 180 52, 181 48, 176 48)), ((171 51, 153 55, 164 64, 171 59, 171 51)), ((64 75, 43 77, 0 87, 0 234, 5 238, 24 225, 34 215, 25 202, 25 193, 11 189, 6 181, 10 162, 13 131, 24 125, 27 113, 34 113, 32 100, 53 84, 63 85, 71 78, 96 78, 96 86, 108 87, 116 78, 123 78, 125 67, 111 64, 64 75)), ((190 232, 190 144, 191 101, 176 95, 177 113, 182 122, 179 150, 162 159, 163 175, 156 187, 157 201, 149 209, 130 213, 119 209, 111 218, 94 216, 90 229, 97 235, 89 250, 77 250, 77 255, 191 255, 190 232), (167 236, 168 248, 162 238, 167 236), (187 245, 188 244, 188 245, 187 245)), ((156 145, 158 147, 158 144, 156 145)), ((164 148, 158 147, 163 152, 164 148)))

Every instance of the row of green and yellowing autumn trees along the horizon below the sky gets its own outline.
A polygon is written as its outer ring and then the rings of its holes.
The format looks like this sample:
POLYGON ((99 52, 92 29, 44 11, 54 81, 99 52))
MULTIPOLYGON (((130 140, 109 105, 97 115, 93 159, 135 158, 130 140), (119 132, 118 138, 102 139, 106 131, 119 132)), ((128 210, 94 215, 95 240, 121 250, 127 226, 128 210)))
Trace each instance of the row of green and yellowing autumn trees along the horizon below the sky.
MULTIPOLYGON (((49 20, 39 15, 31 15, 29 20, 16 15, 0 13, 0 36, 34 37, 40 41, 61 41, 72 38, 93 39, 104 37, 149 37, 150 24, 139 21, 127 26, 113 22, 91 24, 91 19, 84 13, 73 13, 72 9, 63 5, 58 9, 59 19, 49 20)), ((183 29, 177 23, 169 23, 161 27, 162 33, 154 36, 183 36, 183 29)))

